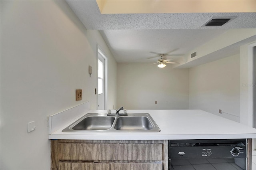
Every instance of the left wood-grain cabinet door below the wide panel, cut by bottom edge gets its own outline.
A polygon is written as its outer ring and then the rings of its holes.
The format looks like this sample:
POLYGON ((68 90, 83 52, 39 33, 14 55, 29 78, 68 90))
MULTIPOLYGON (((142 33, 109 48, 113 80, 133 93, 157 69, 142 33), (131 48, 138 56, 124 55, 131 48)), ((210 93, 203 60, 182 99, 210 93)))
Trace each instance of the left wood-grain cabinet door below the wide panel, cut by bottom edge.
POLYGON ((59 162, 58 170, 109 170, 110 163, 59 162))

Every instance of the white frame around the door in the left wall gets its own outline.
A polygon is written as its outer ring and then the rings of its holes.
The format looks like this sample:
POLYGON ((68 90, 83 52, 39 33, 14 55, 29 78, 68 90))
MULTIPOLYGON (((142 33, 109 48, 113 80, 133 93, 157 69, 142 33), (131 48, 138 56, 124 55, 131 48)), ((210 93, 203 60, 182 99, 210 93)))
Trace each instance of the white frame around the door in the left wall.
MULTIPOLYGON (((107 55, 104 54, 102 48, 100 45, 97 44, 97 60, 96 60, 96 66, 97 66, 97 88, 98 88, 98 54, 104 58, 104 109, 106 110, 108 103, 107 103, 107 96, 108 96, 108 58, 107 55)), ((98 109, 98 90, 97 90, 97 103, 96 103, 96 108, 98 109)))

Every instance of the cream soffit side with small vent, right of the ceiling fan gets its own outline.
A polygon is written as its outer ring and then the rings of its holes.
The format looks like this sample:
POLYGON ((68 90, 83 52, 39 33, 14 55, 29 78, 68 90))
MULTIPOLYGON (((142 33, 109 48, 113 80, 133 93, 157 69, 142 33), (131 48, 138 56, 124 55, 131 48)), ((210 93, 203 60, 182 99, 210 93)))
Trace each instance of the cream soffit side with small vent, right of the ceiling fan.
POLYGON ((184 57, 181 57, 178 61, 180 64, 176 64, 174 68, 187 68, 187 66, 195 67, 200 64, 228 57, 228 55, 223 55, 221 51, 224 51, 224 53, 228 51, 230 55, 235 55, 239 52, 234 50, 234 47, 254 41, 255 35, 255 28, 229 29, 220 36, 191 50, 184 57), (191 53, 195 51, 196 57, 191 58, 191 53))

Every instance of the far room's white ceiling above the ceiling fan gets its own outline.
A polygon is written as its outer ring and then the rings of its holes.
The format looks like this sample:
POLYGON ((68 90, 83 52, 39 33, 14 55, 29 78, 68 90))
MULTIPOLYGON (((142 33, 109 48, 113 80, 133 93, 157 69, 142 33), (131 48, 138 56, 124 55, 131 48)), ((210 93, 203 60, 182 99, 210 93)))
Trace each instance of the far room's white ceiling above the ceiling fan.
POLYGON ((104 30, 117 62, 150 62, 155 53, 169 53, 177 59, 224 33, 225 29, 104 30), (154 53, 151 53, 154 52, 154 53))

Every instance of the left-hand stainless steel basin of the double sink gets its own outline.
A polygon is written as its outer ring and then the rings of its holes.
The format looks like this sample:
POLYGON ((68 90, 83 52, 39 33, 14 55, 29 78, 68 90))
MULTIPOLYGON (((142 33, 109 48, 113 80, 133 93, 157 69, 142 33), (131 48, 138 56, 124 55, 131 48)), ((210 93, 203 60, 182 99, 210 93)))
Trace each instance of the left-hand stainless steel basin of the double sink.
POLYGON ((86 117, 74 127, 73 130, 107 130, 112 127, 114 117, 86 117))

